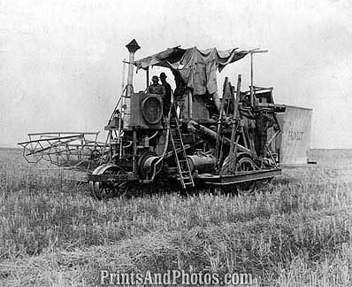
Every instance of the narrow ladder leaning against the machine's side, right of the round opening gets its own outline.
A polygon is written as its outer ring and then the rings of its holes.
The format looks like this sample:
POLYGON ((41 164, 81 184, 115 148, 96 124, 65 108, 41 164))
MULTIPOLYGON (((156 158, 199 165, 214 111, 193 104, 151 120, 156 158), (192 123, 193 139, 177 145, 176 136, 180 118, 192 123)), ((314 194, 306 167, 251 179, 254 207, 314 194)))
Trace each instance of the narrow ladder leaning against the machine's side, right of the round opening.
MULTIPOLYGON (((171 108, 175 109, 175 106, 172 105, 171 108)), ((187 153, 185 151, 185 146, 183 145, 182 134, 180 131, 179 120, 177 119, 177 114, 175 114, 174 120, 175 120, 174 121, 175 128, 170 128, 170 138, 172 142, 172 149, 175 154, 177 170, 180 176, 180 182, 181 182, 182 188, 186 189, 188 185, 195 186, 195 182, 193 180, 191 168, 189 167, 189 163, 187 160, 187 153)))

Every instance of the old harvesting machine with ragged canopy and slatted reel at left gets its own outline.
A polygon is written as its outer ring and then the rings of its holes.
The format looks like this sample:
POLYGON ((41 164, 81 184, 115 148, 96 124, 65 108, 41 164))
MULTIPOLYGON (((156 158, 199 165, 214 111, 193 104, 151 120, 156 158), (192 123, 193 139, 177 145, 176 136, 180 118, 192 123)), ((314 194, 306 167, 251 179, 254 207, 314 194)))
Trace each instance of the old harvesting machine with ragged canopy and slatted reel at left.
MULTIPOLYGON (((97 133, 30 134, 19 143, 29 162, 48 160, 87 173, 96 198, 126 195, 158 186, 178 189, 218 187, 239 193, 256 189, 257 182, 280 175, 279 151, 274 144, 281 132, 272 88, 253 84, 253 56, 265 50, 198 50, 179 46, 134 60, 140 49, 133 40, 129 51, 127 84, 111 114, 105 143, 97 133), (250 86, 241 91, 226 78, 218 95, 217 71, 250 56, 250 86), (174 75, 170 111, 163 114, 158 94, 134 92, 134 67, 146 72, 163 66, 174 75)), ((124 64, 125 67, 125 64, 124 64)), ((125 73, 125 68, 124 68, 125 73)), ((277 142, 279 143, 279 142, 277 142)))

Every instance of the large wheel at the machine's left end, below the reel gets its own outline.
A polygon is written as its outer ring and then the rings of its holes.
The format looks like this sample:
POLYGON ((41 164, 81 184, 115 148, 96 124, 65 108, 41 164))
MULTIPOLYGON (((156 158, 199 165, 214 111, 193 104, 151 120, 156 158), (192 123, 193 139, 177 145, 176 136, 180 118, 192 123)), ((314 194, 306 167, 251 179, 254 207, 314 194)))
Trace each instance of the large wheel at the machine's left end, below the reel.
MULTIPOLYGON (((126 172, 117 166, 97 167, 93 172, 96 175, 125 175, 126 172)), ((111 182, 89 182, 90 190, 97 199, 109 199, 123 197, 126 195, 128 185, 126 181, 111 181, 111 182)))

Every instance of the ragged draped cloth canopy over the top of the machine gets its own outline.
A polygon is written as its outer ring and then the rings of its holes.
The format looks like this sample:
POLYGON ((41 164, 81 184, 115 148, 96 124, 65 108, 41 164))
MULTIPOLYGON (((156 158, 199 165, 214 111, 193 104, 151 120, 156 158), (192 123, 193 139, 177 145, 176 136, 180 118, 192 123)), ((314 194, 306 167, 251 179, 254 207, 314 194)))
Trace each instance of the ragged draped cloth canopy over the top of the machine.
POLYGON ((198 50, 196 47, 181 49, 174 47, 157 54, 142 58, 134 62, 138 69, 147 69, 149 66, 165 66, 172 71, 178 71, 187 88, 193 90, 194 95, 210 94, 218 90, 216 72, 245 57, 250 51, 198 50))

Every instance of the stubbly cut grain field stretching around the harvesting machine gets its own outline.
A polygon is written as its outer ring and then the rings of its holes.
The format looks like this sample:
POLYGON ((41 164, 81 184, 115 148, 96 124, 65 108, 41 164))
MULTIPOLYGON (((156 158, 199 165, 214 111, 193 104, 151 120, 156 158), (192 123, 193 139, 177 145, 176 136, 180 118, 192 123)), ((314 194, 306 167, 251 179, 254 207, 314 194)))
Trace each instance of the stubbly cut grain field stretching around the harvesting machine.
POLYGON ((270 286, 352 284, 352 151, 313 150, 254 195, 97 201, 0 150, 0 286, 95 286, 99 270, 247 272, 270 286))

